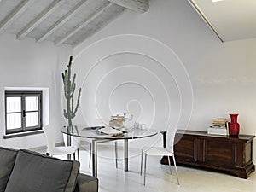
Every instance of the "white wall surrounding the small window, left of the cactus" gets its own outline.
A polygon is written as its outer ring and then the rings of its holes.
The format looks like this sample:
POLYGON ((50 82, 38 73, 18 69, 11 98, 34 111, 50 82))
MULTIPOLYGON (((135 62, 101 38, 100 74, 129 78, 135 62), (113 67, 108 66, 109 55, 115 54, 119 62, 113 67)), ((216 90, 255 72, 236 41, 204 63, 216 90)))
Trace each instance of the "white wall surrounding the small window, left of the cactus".
POLYGON ((9 148, 44 146, 44 134, 3 139, 4 89, 6 87, 49 88, 49 125, 55 128, 57 142, 62 140, 60 126, 64 124, 61 108, 61 71, 73 49, 51 43, 36 44, 32 39, 16 40, 0 34, 0 145, 9 148))

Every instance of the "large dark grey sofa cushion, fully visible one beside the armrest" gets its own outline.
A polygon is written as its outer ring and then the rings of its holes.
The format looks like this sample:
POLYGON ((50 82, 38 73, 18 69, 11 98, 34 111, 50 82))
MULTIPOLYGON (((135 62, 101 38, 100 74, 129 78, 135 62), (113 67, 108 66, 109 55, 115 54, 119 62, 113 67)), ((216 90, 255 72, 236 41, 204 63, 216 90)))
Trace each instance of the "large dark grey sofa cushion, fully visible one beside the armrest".
POLYGON ((79 162, 20 150, 5 192, 73 192, 79 162))

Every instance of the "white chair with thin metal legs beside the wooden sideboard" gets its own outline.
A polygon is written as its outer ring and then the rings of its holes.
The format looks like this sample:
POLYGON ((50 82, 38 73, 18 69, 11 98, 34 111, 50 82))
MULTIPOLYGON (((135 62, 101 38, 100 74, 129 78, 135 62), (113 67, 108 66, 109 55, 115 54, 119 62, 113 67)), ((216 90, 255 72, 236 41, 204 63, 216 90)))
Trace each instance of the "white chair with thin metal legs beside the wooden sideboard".
MULTIPOLYGON (((167 156, 168 157, 168 163, 169 163, 169 168, 170 168, 170 172, 172 174, 172 167, 171 167, 171 160, 170 160, 170 156, 172 156, 172 160, 173 160, 173 164, 175 167, 175 172, 176 172, 176 176, 177 176, 177 166, 176 166, 176 161, 174 158, 174 150, 173 150, 173 146, 174 146, 174 137, 175 137, 175 133, 177 131, 177 128, 175 128, 174 130, 168 130, 166 133, 166 148, 161 148, 161 147, 152 147, 152 148, 143 148, 142 149, 142 159, 141 159, 141 175, 143 173, 143 155, 145 155, 145 162, 144 162, 144 180, 143 180, 143 185, 146 184, 146 164, 147 164, 147 157, 149 155, 154 155, 154 156, 167 156)), ((177 184, 179 185, 179 180, 178 180, 178 176, 177 176, 177 184)))

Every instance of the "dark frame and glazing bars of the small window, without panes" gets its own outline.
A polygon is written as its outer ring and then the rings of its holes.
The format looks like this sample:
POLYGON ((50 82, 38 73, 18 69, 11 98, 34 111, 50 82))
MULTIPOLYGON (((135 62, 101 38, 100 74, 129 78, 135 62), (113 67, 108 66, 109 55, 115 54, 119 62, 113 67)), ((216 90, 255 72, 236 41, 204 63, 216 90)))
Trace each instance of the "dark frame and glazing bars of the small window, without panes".
MULTIPOLYGON (((42 115, 43 115, 43 91, 40 90, 5 90, 5 133, 6 135, 9 134, 15 134, 15 133, 22 133, 22 132, 29 132, 29 131, 38 131, 38 130, 42 130, 42 115), (25 98, 26 96, 38 96, 38 125, 37 126, 31 126, 31 127, 26 127, 26 101, 25 98), (21 98, 21 128, 17 128, 17 129, 11 129, 8 130, 7 129, 7 97, 20 97, 21 98)), ((32 111, 30 111, 32 112, 32 111)))

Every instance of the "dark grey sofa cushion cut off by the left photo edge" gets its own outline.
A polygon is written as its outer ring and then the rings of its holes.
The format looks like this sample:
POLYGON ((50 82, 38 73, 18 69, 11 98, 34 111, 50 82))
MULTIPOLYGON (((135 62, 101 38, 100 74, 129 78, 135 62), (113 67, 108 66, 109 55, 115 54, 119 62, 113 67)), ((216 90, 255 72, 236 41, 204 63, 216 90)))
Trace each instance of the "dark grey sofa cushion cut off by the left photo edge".
POLYGON ((18 151, 0 147, 0 192, 4 192, 9 175, 12 172, 18 151))

